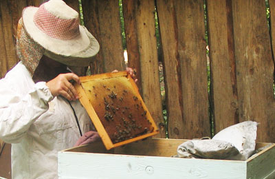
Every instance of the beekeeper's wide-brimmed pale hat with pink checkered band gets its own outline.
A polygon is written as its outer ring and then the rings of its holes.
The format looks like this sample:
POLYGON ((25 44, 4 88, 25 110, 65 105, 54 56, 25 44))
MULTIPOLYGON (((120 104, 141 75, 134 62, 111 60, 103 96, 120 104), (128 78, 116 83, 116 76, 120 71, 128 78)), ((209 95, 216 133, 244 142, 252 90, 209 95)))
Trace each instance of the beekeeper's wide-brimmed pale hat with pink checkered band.
POLYGON ((62 0, 50 0, 22 13, 23 27, 44 54, 70 66, 88 66, 99 50, 98 41, 79 24, 78 12, 62 0))

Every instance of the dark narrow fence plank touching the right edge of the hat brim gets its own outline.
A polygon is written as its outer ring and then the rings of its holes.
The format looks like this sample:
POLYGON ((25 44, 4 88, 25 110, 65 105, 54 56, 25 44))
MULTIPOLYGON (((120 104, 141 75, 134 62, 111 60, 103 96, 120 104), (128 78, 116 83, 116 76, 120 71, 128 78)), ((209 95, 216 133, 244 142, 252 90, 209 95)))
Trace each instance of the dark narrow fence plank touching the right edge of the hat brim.
MULTIPOLYGON (((82 8, 85 27, 101 45, 97 0, 82 0, 82 8)), ((101 48, 100 46, 100 51, 94 57, 94 61, 91 62, 91 74, 100 74, 104 72, 104 61, 101 48)))

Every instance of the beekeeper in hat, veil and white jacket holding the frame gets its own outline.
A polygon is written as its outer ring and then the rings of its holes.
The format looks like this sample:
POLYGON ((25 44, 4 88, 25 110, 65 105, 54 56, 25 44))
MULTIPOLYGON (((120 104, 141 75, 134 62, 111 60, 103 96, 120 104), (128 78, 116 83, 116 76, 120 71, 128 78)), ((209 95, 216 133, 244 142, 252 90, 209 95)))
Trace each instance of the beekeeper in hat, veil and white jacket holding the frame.
POLYGON ((78 19, 62 0, 23 10, 20 62, 0 81, 0 138, 12 143, 12 178, 58 178, 58 151, 100 138, 70 83, 80 83, 99 50, 78 19))

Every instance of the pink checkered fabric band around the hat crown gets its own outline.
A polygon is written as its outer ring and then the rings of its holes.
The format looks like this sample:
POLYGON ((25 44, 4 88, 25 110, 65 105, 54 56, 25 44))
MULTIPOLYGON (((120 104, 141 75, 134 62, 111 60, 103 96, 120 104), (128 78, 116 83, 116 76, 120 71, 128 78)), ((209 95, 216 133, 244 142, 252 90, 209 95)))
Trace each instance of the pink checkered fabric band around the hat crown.
POLYGON ((44 5, 34 14, 34 23, 43 33, 48 36, 61 39, 71 40, 80 34, 79 19, 61 19, 55 17, 45 9, 44 5))

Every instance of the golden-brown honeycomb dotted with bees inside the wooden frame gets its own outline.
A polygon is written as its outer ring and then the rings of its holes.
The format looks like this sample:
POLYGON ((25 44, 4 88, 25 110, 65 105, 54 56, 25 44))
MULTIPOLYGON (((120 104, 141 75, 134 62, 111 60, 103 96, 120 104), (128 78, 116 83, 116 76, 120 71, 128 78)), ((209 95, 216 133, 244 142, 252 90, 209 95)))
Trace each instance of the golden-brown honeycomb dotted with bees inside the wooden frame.
POLYGON ((129 80, 126 76, 115 76, 81 83, 89 103, 114 144, 154 130, 152 120, 148 119, 151 116, 148 116, 137 88, 134 89, 129 80))

